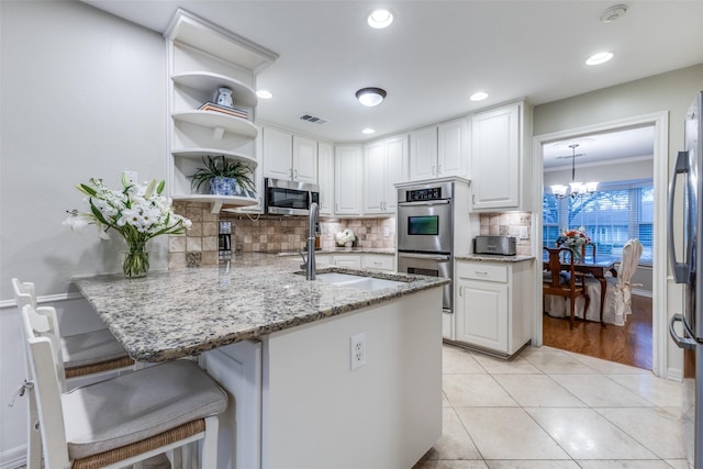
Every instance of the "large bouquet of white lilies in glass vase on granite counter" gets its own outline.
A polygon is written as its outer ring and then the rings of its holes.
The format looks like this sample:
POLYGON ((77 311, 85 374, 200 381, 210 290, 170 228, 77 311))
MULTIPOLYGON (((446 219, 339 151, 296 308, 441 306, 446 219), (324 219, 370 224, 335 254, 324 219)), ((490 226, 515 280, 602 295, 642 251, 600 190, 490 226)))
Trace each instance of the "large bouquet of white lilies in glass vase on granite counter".
POLYGON ((152 179, 143 185, 129 181, 122 174, 122 190, 108 188, 102 179, 90 178, 76 189, 88 196, 90 212, 69 211, 64 220, 75 232, 96 225, 101 239, 110 239, 110 228, 127 243, 122 270, 126 277, 143 277, 149 269, 146 242, 166 234, 181 234, 192 225, 185 216, 174 213, 172 201, 163 196, 166 182, 152 179))

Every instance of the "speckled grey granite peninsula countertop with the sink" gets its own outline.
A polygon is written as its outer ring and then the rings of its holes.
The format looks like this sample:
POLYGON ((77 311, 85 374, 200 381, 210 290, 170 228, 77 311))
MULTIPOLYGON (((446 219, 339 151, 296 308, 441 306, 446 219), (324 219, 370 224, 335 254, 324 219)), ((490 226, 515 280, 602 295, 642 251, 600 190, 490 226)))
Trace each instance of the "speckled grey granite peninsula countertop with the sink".
POLYGON ((72 282, 132 358, 166 361, 256 338, 439 287, 448 279, 319 268, 403 283, 375 291, 308 281, 278 256, 234 256, 228 265, 76 277, 72 282))

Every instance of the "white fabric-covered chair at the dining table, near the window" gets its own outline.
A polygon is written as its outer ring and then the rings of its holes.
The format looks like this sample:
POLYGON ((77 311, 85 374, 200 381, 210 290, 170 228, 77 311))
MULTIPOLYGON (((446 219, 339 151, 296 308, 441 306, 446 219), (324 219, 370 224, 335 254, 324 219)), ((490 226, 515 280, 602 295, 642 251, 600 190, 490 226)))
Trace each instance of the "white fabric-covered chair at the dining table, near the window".
MULTIPOLYGON (((627 315, 632 314, 632 278, 637 270, 641 256, 641 243, 629 239, 623 247, 623 257, 617 267, 617 277, 606 277, 605 302, 603 303, 603 323, 618 326, 625 325, 627 315)), ((591 298, 601 298, 601 282, 594 278, 587 279, 587 288, 591 298)), ((577 299, 577 316, 583 317, 583 301, 577 299)), ((600 301, 591 301, 585 311, 590 321, 600 321, 600 301)))

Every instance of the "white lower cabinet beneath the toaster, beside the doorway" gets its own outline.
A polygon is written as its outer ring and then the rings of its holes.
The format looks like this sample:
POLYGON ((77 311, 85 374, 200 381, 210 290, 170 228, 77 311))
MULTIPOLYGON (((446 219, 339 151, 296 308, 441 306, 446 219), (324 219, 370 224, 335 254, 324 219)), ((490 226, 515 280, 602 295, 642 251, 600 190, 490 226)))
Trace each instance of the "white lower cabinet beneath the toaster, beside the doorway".
POLYGON ((457 260, 455 339, 511 356, 532 337, 532 261, 457 260))

